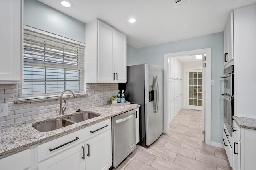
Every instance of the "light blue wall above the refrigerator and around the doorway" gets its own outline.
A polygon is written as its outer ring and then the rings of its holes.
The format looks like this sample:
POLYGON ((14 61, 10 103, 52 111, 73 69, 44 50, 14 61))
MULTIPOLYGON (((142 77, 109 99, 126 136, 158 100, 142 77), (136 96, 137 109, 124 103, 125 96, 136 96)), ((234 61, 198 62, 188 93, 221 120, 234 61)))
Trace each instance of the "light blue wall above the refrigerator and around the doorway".
MULTIPOLYGON (((135 49, 127 46, 127 65, 142 63, 164 66, 164 54, 195 49, 212 49, 211 141, 222 143, 223 113, 220 112, 220 76, 223 74, 223 32, 135 49)), ((206 63, 207 64, 207 63, 206 63)))

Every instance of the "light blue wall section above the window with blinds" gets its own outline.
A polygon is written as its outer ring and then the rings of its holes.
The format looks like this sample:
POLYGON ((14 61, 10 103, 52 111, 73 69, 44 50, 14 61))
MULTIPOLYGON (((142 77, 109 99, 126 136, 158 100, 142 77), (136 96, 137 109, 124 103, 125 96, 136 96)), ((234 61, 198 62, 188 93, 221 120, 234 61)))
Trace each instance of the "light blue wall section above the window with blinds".
POLYGON ((24 0, 24 25, 85 43, 85 23, 37 0, 24 0))

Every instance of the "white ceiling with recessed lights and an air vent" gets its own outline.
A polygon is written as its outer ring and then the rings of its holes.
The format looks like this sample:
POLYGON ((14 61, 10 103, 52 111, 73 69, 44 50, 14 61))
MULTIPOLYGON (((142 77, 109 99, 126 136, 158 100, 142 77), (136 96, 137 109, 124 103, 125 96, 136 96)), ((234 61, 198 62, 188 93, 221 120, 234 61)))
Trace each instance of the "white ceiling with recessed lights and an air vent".
POLYGON ((66 8, 60 0, 39 0, 77 20, 105 21, 127 35, 127 43, 140 48, 224 31, 232 9, 256 0, 191 0, 174 8, 172 0, 70 0, 66 8), (130 18, 138 19, 128 23, 130 18))

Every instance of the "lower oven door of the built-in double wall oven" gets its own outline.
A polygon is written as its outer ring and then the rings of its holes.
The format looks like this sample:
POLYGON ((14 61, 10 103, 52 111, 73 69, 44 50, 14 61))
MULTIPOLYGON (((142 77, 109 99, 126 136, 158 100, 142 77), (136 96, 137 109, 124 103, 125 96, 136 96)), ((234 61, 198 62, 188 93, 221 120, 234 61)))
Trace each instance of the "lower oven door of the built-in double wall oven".
POLYGON ((228 132, 232 136, 232 116, 233 116, 233 97, 227 94, 221 94, 222 104, 223 104, 223 112, 224 112, 224 123, 228 129, 228 132))

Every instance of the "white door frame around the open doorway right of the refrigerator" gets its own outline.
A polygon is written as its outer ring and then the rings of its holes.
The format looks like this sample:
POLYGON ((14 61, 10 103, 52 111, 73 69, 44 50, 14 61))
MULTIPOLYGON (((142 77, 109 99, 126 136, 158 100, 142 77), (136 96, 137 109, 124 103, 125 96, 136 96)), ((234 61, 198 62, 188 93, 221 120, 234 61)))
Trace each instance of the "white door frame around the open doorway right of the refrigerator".
MULTIPOLYGON (((211 145, 211 49, 198 49, 191 51, 183 51, 178 53, 169 53, 164 55, 164 92, 165 94, 169 94, 169 74, 170 74, 170 66, 168 64, 168 60, 170 61, 170 57, 179 57, 179 56, 188 56, 188 55, 196 55, 196 54, 206 54, 206 58, 202 62, 202 65, 206 65, 206 67, 202 68, 202 131, 205 131, 205 143, 211 145), (206 98, 207 96, 207 98, 206 98)), ((198 73, 197 73, 198 75, 198 73)), ((193 80, 194 81, 194 80, 193 80)), ((198 81, 198 80, 197 80, 198 81)), ((189 95, 189 94, 188 94, 189 95)), ((198 94, 196 94, 198 95, 198 94)), ((184 94, 183 94, 184 96, 184 94)), ((197 96, 198 97, 198 96, 197 96)), ((193 102, 194 102, 194 98, 193 102)), ((164 133, 169 133, 169 121, 170 116, 170 96, 164 95, 164 133)), ((198 102, 198 98, 196 98, 196 102, 198 102)))

